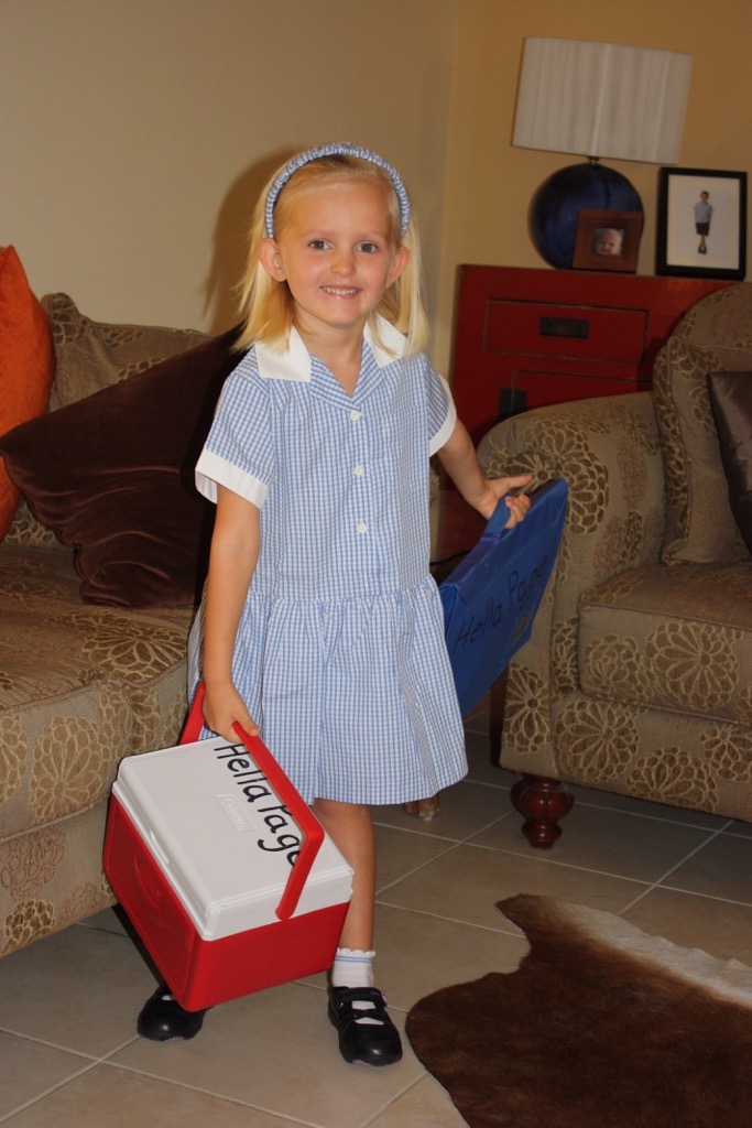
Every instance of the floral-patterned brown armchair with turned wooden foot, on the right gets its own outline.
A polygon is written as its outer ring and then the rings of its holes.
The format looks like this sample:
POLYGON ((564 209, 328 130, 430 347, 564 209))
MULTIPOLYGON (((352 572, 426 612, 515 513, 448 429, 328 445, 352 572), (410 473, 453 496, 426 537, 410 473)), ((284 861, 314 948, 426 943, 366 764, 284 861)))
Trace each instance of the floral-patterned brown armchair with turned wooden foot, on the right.
POLYGON ((752 284, 684 315, 652 391, 513 416, 479 458, 569 485, 502 721, 531 845, 567 783, 752 820, 752 284))

